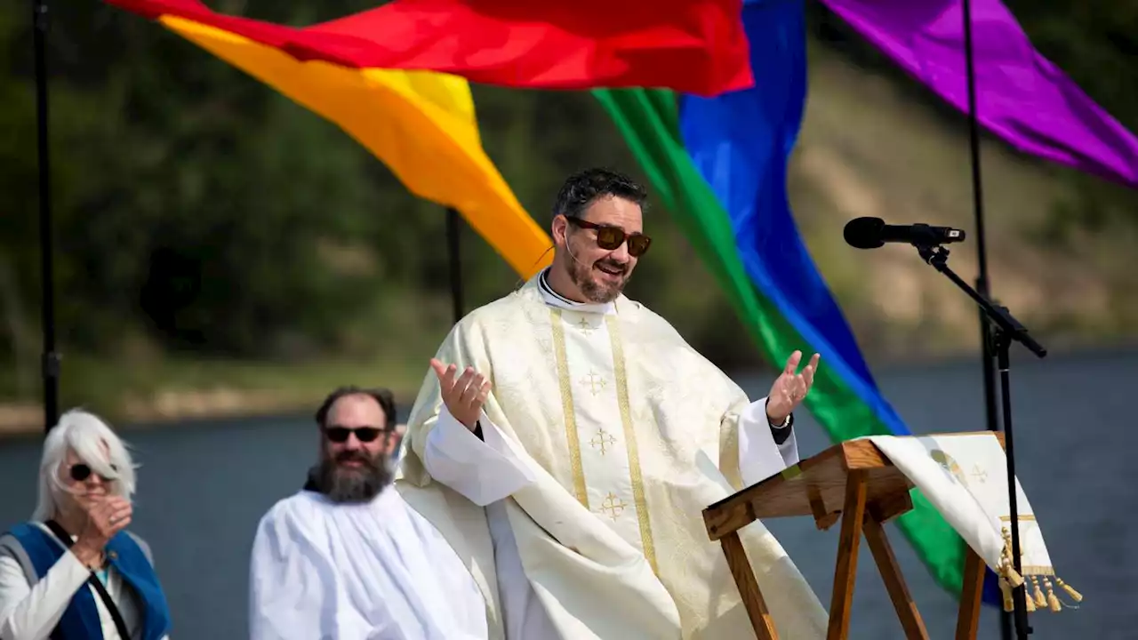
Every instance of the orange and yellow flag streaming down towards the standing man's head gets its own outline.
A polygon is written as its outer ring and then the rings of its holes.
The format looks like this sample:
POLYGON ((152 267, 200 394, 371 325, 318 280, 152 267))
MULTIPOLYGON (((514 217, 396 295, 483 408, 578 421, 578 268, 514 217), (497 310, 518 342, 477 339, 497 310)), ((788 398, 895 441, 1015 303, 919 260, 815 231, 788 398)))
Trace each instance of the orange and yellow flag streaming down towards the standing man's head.
POLYGON ((413 194, 461 212, 521 277, 550 264, 549 235, 521 206, 483 149, 465 79, 299 61, 279 49, 209 25, 171 15, 158 19, 339 125, 413 194))

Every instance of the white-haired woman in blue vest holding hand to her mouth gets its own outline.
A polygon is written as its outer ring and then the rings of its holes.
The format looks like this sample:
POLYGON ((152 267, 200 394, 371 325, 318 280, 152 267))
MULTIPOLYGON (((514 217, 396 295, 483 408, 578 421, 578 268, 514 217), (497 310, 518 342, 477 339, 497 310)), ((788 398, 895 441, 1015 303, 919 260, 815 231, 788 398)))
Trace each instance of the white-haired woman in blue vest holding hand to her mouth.
POLYGON ((134 465, 98 417, 43 443, 32 520, 0 536, 0 640, 160 640, 170 609, 150 549, 126 531, 134 465))

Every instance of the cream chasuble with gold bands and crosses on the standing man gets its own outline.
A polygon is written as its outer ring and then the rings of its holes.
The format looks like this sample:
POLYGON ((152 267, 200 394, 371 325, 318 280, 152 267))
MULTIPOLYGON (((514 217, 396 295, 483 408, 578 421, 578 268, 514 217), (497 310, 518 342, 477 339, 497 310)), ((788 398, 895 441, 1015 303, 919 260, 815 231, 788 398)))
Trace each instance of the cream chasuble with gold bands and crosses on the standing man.
MULTIPOLYGON (((445 411, 440 419, 431 371, 397 486, 448 541, 468 528, 484 536, 454 542, 476 577, 494 571, 486 514, 504 507, 525 577, 561 638, 753 634, 702 519, 740 487, 747 395, 643 305, 621 296, 610 313, 554 307, 537 278, 470 313, 437 354, 489 376, 485 444, 445 411)), ((749 479, 783 466, 765 412, 762 422, 744 459, 777 468, 749 479)), ((781 637, 823 638, 825 610, 774 536, 752 523, 740 538, 781 637)), ((496 621, 497 594, 486 596, 496 621)))

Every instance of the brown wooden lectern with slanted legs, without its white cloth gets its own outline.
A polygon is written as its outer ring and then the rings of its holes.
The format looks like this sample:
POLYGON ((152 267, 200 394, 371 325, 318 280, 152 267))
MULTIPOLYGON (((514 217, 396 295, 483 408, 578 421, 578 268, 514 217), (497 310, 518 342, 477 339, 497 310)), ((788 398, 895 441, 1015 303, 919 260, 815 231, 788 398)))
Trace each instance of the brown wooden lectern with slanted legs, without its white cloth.
MULTIPOLYGON (((1003 445, 1004 434, 995 435, 1003 445)), ((839 518, 842 520, 827 640, 844 639, 849 633, 853 579, 863 533, 885 581, 905 637, 927 639, 924 621, 909 596, 882 526, 913 508, 910 489, 913 483, 880 449, 867 440, 857 440, 831 446, 704 509, 708 535, 723 544, 727 565, 759 640, 776 640, 778 634, 736 532, 756 519, 786 516, 814 516, 819 530, 830 528, 839 518)), ((976 637, 983 582, 984 563, 967 548, 964 590, 956 622, 957 640, 974 640, 976 637)))

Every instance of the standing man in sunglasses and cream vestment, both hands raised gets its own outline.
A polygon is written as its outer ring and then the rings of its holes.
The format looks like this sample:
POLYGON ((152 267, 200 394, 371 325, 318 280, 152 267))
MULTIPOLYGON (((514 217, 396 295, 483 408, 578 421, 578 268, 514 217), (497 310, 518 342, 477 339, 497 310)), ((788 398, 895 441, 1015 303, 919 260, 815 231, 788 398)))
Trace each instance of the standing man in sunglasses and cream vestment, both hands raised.
MULTIPOLYGON (((513 639, 753 638, 702 509, 798 461, 817 354, 750 402, 622 295, 650 246, 642 187, 568 179, 552 265, 455 326, 409 419, 399 491, 470 567, 513 639)), ((740 532, 784 639, 826 614, 761 523, 740 532)))

